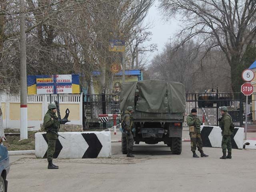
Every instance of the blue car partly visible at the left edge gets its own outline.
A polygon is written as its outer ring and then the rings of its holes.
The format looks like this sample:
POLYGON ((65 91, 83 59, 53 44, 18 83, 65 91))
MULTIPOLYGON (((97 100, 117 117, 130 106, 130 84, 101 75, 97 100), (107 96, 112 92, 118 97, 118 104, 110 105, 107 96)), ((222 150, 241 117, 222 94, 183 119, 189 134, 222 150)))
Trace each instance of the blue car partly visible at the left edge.
POLYGON ((9 154, 6 146, 2 143, 2 138, 0 138, 0 192, 7 192, 8 181, 6 176, 10 170, 9 154))

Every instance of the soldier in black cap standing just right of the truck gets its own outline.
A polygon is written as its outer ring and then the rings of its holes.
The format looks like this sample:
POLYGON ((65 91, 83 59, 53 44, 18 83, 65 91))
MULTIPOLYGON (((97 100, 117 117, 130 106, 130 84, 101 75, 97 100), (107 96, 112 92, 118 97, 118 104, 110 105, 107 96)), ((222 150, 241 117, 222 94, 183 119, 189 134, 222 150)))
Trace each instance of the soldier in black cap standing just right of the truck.
POLYGON ((201 130, 200 125, 202 122, 196 115, 196 109, 192 109, 191 113, 187 117, 187 124, 189 126, 189 136, 191 141, 191 151, 193 152, 193 157, 199 158, 196 154, 196 147, 198 151, 201 153, 201 157, 208 157, 208 155, 204 154, 203 152, 203 143, 201 138, 201 130))

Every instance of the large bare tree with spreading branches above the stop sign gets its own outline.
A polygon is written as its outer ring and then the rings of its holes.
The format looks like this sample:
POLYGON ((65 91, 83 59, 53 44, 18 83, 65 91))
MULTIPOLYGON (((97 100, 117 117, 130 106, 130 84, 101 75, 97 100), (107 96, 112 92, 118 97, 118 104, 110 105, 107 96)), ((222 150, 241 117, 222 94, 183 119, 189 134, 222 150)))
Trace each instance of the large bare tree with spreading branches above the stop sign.
POLYGON ((256 36, 256 2, 254 0, 160 0, 168 18, 177 16, 184 24, 181 44, 196 38, 206 51, 220 48, 231 68, 232 90, 242 83, 241 62, 246 48, 256 36))

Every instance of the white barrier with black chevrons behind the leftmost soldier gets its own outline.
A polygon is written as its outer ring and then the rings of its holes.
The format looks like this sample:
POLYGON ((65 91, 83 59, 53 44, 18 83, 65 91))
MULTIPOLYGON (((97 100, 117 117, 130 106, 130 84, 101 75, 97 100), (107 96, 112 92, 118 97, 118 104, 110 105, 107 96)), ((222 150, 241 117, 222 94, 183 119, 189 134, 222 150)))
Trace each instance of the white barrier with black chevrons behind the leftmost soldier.
MULTIPOLYGON (((97 158, 111 157, 111 133, 104 132, 59 132, 62 137, 57 140, 54 158, 97 158)), ((46 158, 46 132, 35 134, 36 157, 46 158)))

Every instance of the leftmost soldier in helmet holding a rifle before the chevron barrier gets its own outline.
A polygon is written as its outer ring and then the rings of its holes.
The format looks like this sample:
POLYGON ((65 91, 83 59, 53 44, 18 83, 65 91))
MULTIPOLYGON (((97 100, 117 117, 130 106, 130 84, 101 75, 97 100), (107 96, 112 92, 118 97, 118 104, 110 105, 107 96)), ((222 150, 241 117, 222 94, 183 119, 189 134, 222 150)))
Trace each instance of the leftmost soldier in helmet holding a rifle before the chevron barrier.
POLYGON ((55 152, 56 141, 58 140, 58 135, 54 134, 52 131, 58 132, 58 128, 59 128, 59 122, 58 122, 58 117, 56 116, 55 104, 48 105, 48 111, 44 116, 44 128, 46 130, 46 138, 48 140, 48 149, 47 149, 48 169, 58 169, 59 167, 52 163, 53 154, 55 152))

